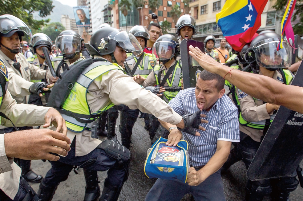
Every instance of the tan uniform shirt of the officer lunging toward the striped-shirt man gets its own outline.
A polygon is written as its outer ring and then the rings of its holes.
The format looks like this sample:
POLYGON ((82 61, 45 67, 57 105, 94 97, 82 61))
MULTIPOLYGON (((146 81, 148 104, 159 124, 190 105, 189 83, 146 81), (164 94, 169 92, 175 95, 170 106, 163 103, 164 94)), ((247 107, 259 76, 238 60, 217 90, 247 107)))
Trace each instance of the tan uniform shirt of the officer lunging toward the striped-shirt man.
MULTIPOLYGON (((96 57, 96 56, 95 56, 96 57)), ((168 104, 150 91, 145 90, 121 70, 111 70, 95 79, 88 88, 87 103, 91 113, 105 107, 109 100, 115 105, 124 104, 130 109, 155 115, 162 121, 178 124, 182 117, 168 104)), ((55 129, 55 128, 51 128, 55 129)), ((68 131, 67 137, 76 136, 76 156, 84 156, 93 151, 102 141, 91 138, 90 131, 75 133, 68 131)))

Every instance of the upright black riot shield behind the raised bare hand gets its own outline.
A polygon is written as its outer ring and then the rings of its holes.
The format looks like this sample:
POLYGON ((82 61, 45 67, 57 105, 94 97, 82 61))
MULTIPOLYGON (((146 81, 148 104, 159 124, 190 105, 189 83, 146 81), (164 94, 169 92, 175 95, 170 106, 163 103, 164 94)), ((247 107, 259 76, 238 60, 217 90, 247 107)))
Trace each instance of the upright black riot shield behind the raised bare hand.
POLYGON ((191 39, 183 39, 181 41, 180 50, 184 89, 196 87, 197 79, 203 70, 200 64, 196 60, 192 59, 192 57, 188 54, 189 45, 198 47, 202 52, 204 52, 203 42, 191 39))

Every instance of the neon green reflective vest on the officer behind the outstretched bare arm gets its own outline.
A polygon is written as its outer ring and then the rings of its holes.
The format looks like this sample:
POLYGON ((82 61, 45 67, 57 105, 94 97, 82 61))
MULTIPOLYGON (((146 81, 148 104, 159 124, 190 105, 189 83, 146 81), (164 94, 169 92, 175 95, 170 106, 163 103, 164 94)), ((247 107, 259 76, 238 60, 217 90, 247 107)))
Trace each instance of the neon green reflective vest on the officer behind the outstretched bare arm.
MULTIPOLYGON (((287 69, 283 69, 283 72, 284 72, 285 79, 286 79, 286 85, 289 85, 289 83, 293 80, 293 73, 291 73, 287 69)), ((236 87, 235 87, 235 93, 236 93, 236 87)), ((232 96, 235 96, 235 98, 237 100, 237 104, 238 104, 237 107, 239 108, 240 107, 240 102, 238 101, 238 96, 234 95, 234 94, 232 94, 232 96)), ((233 97, 233 99, 234 99, 234 97, 233 97)), ((273 114, 273 115, 270 116, 270 122, 273 121, 273 119, 274 119, 275 116, 276 116, 276 114, 273 114)), ((266 120, 261 120, 261 121, 258 121, 258 122, 248 122, 248 121, 246 121, 243 118, 241 112, 239 113, 239 122, 243 126, 247 126, 247 127, 250 127, 250 128, 255 128, 255 129, 261 129, 261 130, 263 130, 264 127, 265 127, 265 121, 266 120)))

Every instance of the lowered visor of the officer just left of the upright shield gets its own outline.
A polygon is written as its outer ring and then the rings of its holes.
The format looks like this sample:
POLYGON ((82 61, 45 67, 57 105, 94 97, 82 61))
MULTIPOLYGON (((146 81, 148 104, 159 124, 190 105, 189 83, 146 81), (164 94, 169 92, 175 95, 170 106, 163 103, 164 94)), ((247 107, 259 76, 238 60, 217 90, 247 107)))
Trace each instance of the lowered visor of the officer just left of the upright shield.
POLYGON ((158 41, 152 46, 153 60, 171 59, 175 55, 177 42, 173 40, 158 41))

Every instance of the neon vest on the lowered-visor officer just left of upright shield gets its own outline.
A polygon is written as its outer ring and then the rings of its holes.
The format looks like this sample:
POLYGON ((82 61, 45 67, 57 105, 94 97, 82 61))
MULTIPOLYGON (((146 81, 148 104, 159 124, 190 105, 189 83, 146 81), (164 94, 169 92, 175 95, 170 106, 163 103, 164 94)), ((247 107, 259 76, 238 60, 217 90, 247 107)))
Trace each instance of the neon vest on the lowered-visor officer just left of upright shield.
MULTIPOLYGON (((172 71, 172 77, 171 80, 167 78, 166 84, 167 86, 163 86, 165 88, 165 92, 163 93, 163 98, 165 102, 171 101, 176 95, 179 93, 181 90, 181 78, 180 76, 182 75, 182 69, 180 68, 179 61, 176 61, 177 64, 175 66, 175 69, 172 71)), ((159 87, 160 82, 158 80, 158 74, 159 70, 162 67, 162 65, 156 65, 154 68, 154 75, 156 77, 156 85, 159 87)), ((172 68, 172 67, 171 67, 172 68)), ((166 75, 165 71, 162 71, 164 76, 166 75)))

